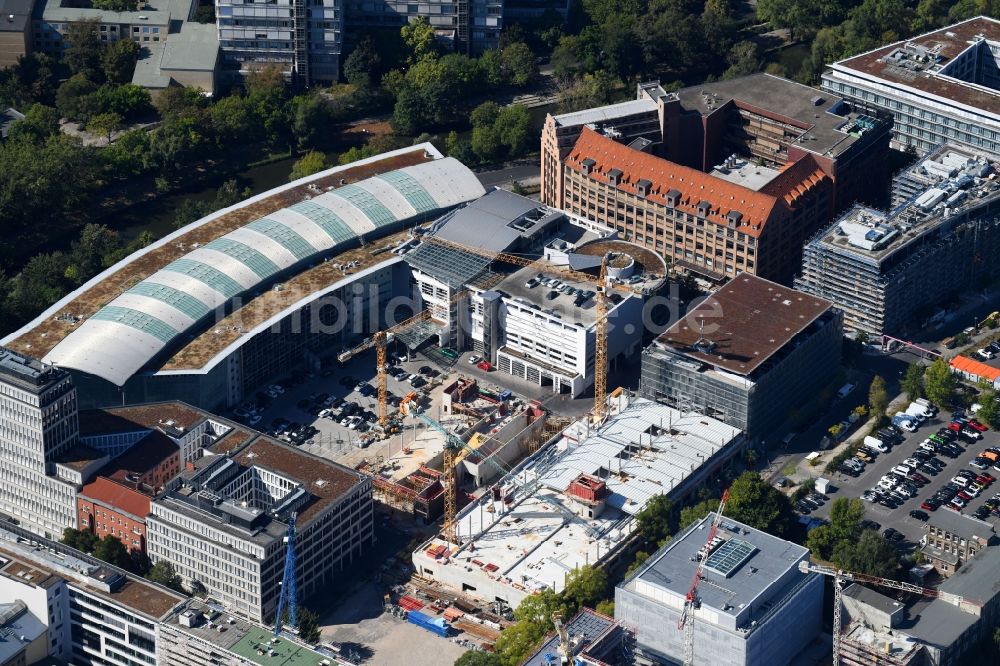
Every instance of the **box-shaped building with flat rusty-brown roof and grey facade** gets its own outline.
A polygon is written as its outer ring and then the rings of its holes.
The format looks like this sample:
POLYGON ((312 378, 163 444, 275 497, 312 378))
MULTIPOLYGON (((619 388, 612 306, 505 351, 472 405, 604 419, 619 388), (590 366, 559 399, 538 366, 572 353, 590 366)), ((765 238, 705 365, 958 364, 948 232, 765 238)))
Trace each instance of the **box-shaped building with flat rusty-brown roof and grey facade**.
POLYGON ((842 338, 829 301, 744 273, 643 351, 639 391, 758 438, 833 381, 842 338))

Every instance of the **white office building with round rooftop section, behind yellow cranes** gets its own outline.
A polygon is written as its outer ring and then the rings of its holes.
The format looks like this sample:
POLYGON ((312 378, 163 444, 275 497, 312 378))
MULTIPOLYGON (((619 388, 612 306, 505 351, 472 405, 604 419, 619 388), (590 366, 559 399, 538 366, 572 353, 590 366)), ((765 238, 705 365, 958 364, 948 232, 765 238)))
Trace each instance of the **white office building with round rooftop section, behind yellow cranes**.
POLYGON ((471 349, 500 372, 573 396, 594 381, 602 257, 611 253, 612 284, 620 287, 609 289, 612 367, 638 351, 641 294, 666 272, 661 258, 612 231, 503 190, 442 218, 425 238, 402 254, 432 322, 404 341, 418 346, 437 336, 443 347, 471 349))

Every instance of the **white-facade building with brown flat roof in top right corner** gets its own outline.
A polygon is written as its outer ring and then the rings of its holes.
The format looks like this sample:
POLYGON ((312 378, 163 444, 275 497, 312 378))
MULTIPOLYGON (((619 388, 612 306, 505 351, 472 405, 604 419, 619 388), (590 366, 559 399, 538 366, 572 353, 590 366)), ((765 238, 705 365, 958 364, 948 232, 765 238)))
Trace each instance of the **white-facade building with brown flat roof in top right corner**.
POLYGON ((835 62, 824 91, 893 118, 893 144, 1000 152, 1000 21, 979 16, 835 62))

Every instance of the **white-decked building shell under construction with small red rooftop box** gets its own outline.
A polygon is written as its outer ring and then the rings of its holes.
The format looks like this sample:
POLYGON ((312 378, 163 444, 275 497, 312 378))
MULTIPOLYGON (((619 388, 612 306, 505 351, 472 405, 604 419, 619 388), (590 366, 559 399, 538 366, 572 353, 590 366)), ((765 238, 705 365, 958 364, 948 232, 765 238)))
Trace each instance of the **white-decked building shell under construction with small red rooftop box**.
POLYGON ((574 569, 625 550, 652 497, 684 502, 717 490, 716 476, 745 448, 743 433, 716 419, 612 395, 601 423, 570 425, 461 510, 455 543, 423 543, 413 553, 417 573, 515 607, 562 590, 574 569))

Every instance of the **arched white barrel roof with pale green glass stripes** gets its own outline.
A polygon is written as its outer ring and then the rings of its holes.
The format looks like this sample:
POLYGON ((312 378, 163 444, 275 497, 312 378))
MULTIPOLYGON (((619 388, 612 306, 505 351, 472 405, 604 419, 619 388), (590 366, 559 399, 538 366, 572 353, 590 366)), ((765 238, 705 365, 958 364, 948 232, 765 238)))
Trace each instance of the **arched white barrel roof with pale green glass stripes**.
POLYGON ((294 268, 482 196, 461 162, 444 158, 324 192, 188 252, 83 322, 45 362, 119 386, 186 339, 231 299, 294 268))

